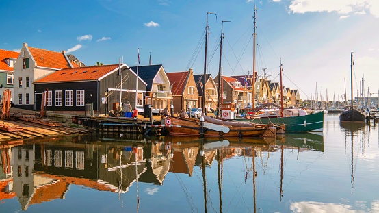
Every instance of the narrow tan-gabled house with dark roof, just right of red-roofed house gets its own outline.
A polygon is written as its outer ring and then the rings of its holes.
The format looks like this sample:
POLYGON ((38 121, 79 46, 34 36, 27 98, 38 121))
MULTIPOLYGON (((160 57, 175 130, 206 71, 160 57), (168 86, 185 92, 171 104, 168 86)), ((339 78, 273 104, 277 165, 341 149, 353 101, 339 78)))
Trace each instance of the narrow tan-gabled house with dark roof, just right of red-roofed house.
MULTIPOLYGON (((199 107, 202 106, 202 80, 204 75, 194 75, 194 79, 196 82, 196 87, 198 88, 198 105, 199 107)), ((207 82, 205 83, 205 107, 206 108, 217 108, 217 86, 215 85, 215 81, 212 78, 211 74, 207 74, 205 76, 205 79, 207 79, 207 82)))

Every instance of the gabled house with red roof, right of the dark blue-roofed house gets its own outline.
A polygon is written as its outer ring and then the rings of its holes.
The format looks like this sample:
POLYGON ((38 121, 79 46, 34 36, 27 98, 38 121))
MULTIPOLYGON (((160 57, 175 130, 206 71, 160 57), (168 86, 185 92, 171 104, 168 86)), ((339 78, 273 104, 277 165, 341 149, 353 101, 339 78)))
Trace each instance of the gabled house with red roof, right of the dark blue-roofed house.
POLYGON ((171 83, 172 104, 174 112, 187 108, 199 108, 198 89, 192 68, 187 72, 166 73, 171 83))

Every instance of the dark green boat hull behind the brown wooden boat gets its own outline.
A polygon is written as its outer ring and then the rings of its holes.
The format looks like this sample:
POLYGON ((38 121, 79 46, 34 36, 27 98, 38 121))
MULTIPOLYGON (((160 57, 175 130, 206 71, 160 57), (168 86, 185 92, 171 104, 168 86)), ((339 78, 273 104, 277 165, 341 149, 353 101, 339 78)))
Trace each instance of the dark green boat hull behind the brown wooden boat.
POLYGON ((293 116, 283 118, 237 118, 234 121, 244 121, 252 123, 277 123, 284 124, 286 132, 306 132, 306 131, 322 131, 324 126, 324 111, 304 116, 293 116))

